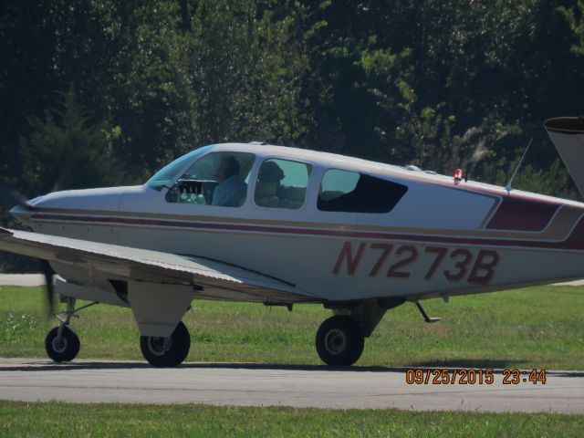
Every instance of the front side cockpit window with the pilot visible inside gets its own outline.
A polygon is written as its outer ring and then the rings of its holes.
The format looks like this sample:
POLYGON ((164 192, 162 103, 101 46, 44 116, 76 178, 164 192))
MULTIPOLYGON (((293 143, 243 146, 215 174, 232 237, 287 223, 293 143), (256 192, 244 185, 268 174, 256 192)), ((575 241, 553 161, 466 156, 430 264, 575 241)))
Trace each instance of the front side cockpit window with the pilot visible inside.
POLYGON ((183 173, 166 193, 169 203, 239 207, 245 202, 252 153, 209 153, 183 173))

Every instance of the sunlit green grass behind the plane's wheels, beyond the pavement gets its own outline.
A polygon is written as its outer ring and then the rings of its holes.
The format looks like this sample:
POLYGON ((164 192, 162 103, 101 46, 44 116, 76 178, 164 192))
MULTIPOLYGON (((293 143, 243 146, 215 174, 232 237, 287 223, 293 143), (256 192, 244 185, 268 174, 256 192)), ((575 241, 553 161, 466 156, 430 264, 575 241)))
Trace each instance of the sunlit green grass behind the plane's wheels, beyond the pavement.
MULTIPOLYGON (((529 287, 426 301, 426 324, 412 304, 390 310, 370 339, 360 366, 584 368, 584 288, 529 287)), ((44 291, 0 287, 0 356, 45 357, 44 291)), ((317 305, 286 308, 196 301, 183 318, 192 336, 187 360, 318 364, 314 337, 330 315, 317 305)), ((72 321, 78 358, 142 360, 139 332, 127 308, 100 305, 72 321)))

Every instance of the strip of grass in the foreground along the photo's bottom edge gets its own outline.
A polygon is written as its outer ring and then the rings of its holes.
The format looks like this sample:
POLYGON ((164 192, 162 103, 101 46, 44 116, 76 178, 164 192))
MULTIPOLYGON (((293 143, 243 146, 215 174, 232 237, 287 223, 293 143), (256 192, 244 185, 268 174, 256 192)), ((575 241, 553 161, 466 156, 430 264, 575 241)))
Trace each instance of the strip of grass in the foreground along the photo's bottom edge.
POLYGON ((581 436, 584 416, 0 401, 1 436, 581 436))

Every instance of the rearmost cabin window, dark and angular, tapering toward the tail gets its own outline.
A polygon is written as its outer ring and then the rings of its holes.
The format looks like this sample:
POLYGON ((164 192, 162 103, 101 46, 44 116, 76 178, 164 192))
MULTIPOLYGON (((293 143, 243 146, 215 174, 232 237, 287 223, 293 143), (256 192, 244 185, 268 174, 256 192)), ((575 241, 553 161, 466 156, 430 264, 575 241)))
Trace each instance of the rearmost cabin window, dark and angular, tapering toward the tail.
POLYGON ((408 187, 358 172, 329 169, 318 191, 322 212, 389 213, 408 187))

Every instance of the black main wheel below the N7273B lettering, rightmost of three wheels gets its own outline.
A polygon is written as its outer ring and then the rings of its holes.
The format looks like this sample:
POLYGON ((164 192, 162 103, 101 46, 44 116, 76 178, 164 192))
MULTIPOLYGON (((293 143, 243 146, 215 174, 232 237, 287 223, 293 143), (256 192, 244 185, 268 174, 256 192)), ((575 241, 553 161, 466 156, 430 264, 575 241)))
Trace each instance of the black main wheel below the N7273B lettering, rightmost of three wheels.
POLYGON ((353 318, 338 315, 320 325, 316 343, 318 356, 327 365, 350 366, 361 357, 365 338, 353 318))

